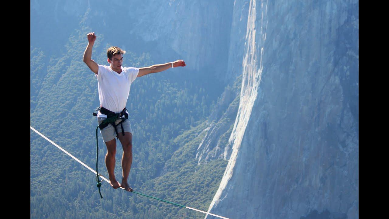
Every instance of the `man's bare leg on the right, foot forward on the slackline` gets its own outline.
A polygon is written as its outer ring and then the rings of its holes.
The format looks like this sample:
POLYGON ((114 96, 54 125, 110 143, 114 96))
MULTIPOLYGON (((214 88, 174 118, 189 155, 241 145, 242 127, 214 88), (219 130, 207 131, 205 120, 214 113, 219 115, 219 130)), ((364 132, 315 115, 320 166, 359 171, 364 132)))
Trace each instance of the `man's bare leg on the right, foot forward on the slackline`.
POLYGON ((126 191, 133 191, 128 184, 128 176, 130 175, 131 164, 132 164, 132 134, 130 132, 124 132, 124 136, 121 132, 118 133, 120 143, 123 147, 123 156, 122 156, 122 182, 121 187, 126 191))

